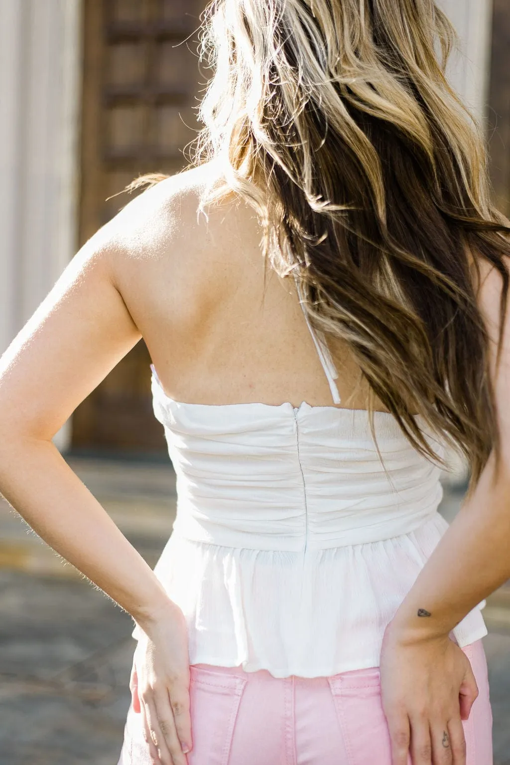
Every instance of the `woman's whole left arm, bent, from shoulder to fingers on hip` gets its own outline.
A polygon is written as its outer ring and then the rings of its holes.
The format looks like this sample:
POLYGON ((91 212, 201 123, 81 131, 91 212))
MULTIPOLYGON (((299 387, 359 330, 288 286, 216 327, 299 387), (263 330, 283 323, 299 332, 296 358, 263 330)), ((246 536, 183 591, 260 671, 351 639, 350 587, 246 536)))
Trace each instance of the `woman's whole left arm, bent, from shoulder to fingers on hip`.
MULTIPOLYGON (((143 219, 144 202, 128 207, 77 253, 0 360, 0 492, 134 617, 142 630, 131 684, 135 711, 144 713, 153 761, 185 765, 181 744, 191 747, 191 721, 182 611, 52 442, 141 337, 116 279, 119 269, 144 267, 130 264, 124 252, 130 216, 138 211, 143 219)), ((140 225, 150 239, 153 226, 140 225)), ((135 256, 145 248, 150 257, 150 241, 140 244, 139 233, 131 236, 135 256)), ((154 249, 162 246, 159 236, 154 249)))

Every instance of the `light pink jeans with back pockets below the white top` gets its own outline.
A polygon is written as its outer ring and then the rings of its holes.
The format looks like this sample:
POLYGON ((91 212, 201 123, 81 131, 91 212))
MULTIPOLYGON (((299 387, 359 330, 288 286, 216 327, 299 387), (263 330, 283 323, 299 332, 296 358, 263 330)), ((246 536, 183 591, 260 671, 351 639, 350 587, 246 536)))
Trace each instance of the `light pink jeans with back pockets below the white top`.
MULTIPOLYGON (((470 718, 463 722, 466 765, 492 765, 482 641, 463 650, 479 688, 470 718)), ((190 672, 189 765, 391 765, 376 667, 311 679, 208 664, 192 665, 190 672)), ((118 765, 151 765, 140 715, 132 708, 118 765)))

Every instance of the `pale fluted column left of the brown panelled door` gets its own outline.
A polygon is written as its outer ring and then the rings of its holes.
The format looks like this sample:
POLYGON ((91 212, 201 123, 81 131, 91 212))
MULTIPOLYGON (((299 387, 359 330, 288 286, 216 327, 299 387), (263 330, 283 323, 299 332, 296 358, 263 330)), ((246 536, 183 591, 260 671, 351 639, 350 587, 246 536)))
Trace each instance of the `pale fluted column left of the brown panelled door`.
POLYGON ((76 251, 81 2, 0 8, 0 353, 76 251))

